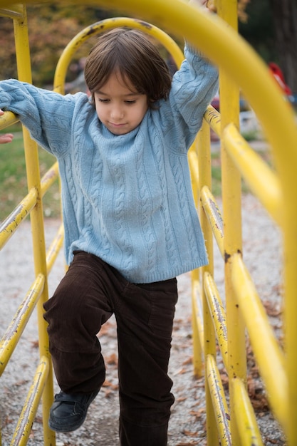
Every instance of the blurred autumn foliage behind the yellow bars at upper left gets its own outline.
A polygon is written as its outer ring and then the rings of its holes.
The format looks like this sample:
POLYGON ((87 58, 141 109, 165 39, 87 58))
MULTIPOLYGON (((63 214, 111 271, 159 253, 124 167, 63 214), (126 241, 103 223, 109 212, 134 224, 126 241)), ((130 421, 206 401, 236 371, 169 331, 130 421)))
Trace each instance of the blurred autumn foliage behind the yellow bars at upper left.
MULTIPOLYGON (((85 26, 113 16, 113 11, 83 5, 73 8, 71 5, 42 4, 27 6, 27 16, 33 83, 42 86, 53 82, 58 58, 71 38, 85 26)), ((74 61, 86 53, 87 43, 75 54, 74 61)), ((14 27, 11 19, 0 18, 0 60, 0 79, 15 78, 14 27)))

